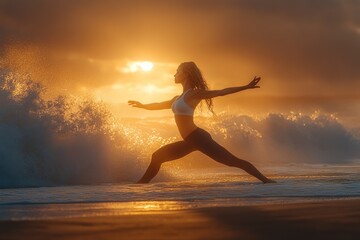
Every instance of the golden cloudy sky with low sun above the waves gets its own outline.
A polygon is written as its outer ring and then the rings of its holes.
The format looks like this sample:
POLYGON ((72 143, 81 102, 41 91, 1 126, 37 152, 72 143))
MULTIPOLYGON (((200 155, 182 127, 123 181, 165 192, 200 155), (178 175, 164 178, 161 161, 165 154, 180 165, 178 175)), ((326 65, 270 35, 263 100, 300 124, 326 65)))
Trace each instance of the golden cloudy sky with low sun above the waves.
POLYGON ((220 106, 342 111, 360 99, 359 12, 351 0, 0 0, 0 64, 125 107, 178 94, 173 74, 192 60, 211 88, 263 77, 220 106))

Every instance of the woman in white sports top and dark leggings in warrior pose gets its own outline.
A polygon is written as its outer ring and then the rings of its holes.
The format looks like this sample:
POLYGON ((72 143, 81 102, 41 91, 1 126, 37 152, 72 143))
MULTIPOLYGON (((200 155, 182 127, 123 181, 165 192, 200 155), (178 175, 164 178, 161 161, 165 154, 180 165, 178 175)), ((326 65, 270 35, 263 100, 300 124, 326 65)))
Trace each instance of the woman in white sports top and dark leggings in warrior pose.
POLYGON ((224 147, 216 143, 208 132, 197 127, 193 121, 194 109, 205 100, 209 110, 212 112, 212 98, 240 92, 246 89, 259 88, 257 86, 260 77, 255 77, 248 85, 242 87, 231 87, 222 90, 208 90, 207 84, 202 77, 199 68, 194 62, 181 63, 177 69, 175 83, 180 83, 183 93, 173 99, 160 103, 142 104, 137 101, 129 101, 129 105, 148 110, 172 109, 175 114, 176 125, 183 141, 165 145, 152 154, 151 163, 144 176, 138 183, 148 183, 160 170, 161 164, 167 161, 179 159, 185 155, 200 151, 222 164, 241 168, 250 175, 258 178, 263 183, 272 183, 260 173, 251 163, 239 159, 224 147))

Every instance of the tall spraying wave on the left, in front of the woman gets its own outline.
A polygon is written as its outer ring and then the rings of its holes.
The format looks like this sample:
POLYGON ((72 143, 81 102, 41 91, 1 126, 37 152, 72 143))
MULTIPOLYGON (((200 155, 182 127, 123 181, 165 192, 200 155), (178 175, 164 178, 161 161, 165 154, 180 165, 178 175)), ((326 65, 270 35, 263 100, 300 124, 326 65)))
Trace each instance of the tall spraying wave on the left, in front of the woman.
POLYGON ((160 136, 116 120, 88 97, 42 97, 11 73, 0 78, 0 188, 135 181, 160 136))

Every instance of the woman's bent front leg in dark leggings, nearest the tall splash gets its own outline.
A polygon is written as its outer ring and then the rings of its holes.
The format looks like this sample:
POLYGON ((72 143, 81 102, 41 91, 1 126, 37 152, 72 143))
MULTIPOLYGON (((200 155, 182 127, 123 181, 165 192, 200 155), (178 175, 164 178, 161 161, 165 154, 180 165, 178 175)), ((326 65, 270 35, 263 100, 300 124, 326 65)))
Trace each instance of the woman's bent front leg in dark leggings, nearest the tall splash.
POLYGON ((148 169, 137 183, 150 182, 150 180, 153 179, 159 172, 161 164, 167 161, 182 158, 195 150, 195 148, 185 141, 170 143, 159 148, 152 154, 148 169))

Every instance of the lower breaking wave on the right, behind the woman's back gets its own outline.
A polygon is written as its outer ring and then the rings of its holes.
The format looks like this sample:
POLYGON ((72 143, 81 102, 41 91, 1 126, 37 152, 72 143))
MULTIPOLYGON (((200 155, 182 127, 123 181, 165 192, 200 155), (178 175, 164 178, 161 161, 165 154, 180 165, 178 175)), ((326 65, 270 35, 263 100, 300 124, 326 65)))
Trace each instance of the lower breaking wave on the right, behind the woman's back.
POLYGON ((360 138, 332 114, 220 114, 207 119, 215 138, 261 162, 346 163, 360 158, 360 138))

